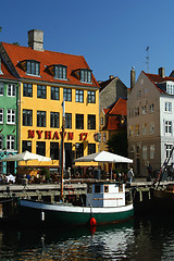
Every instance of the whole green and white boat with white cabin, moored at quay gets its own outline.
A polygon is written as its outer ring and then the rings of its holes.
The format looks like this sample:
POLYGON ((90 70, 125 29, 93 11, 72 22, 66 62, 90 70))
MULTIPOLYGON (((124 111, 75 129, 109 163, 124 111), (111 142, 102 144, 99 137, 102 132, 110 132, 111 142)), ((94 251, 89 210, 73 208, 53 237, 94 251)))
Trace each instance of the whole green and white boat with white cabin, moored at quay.
POLYGON ((123 222, 133 215, 133 203, 125 202, 125 185, 111 182, 91 184, 85 206, 20 200, 20 220, 29 225, 100 225, 123 222))

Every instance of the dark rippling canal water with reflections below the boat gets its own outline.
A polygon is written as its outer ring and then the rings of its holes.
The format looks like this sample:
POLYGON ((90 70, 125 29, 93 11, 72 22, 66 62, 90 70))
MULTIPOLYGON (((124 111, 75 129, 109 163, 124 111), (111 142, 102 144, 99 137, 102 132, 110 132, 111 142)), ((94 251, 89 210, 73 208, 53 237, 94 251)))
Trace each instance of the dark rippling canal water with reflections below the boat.
POLYGON ((88 227, 0 227, 0 260, 174 260, 174 219, 135 217, 88 227))

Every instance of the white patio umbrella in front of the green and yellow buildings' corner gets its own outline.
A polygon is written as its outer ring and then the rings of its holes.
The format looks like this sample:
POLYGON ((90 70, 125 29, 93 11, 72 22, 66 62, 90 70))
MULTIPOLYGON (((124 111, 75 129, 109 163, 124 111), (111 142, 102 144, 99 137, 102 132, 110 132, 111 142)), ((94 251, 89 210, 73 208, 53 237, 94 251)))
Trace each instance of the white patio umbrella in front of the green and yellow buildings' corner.
POLYGON ((1 161, 29 161, 29 160, 38 160, 38 161, 51 161, 51 158, 47 158, 40 154, 30 153, 29 151, 24 151, 18 154, 8 156, 3 158, 1 161))

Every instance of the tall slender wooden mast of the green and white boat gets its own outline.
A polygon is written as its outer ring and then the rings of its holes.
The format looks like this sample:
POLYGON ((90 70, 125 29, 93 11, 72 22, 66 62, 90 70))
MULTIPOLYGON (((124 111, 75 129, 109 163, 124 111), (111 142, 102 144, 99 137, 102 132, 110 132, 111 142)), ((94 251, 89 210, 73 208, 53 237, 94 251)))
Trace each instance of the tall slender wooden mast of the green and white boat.
POLYGON ((62 103, 62 133, 61 133, 61 200, 63 200, 63 163, 64 163, 64 128, 65 128, 65 107, 64 99, 62 103))

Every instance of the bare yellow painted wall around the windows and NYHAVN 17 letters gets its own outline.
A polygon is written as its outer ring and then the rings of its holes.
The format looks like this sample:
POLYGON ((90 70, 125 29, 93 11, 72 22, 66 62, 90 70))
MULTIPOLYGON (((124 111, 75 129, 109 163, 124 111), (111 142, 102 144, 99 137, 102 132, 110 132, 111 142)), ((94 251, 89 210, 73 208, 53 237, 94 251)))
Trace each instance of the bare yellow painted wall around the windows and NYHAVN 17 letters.
MULTIPOLYGON (((44 84, 42 84, 44 85, 44 84)), ((59 87, 59 86, 57 86, 59 87)), ((64 88, 67 88, 65 86, 64 88)), ((72 142, 72 149, 75 150, 75 144, 82 142, 79 140, 80 133, 88 133, 87 140, 85 140, 85 151, 84 156, 88 153, 88 142, 96 144, 96 152, 98 151, 99 142, 96 142, 94 139, 94 134, 99 132, 99 90, 94 88, 90 90, 96 90, 96 103, 87 103, 87 88, 84 88, 84 102, 75 102, 75 90, 77 88, 72 89, 72 101, 65 101, 65 113, 72 113, 72 128, 65 129, 65 132, 74 133, 74 139, 67 140, 67 135, 64 139, 64 142, 72 142), (84 114, 84 129, 76 129, 75 128, 75 114, 84 114), (96 114, 96 129, 88 129, 87 128, 87 115, 88 114, 96 114)), ((82 89, 82 88, 80 88, 82 89)), ((33 97, 23 97, 23 84, 21 85, 21 110, 20 110, 20 128, 18 128, 18 137, 20 137, 20 152, 22 152, 22 140, 30 140, 32 141, 32 152, 36 153, 36 142, 37 141, 46 141, 46 157, 50 157, 50 141, 60 141, 51 139, 45 139, 45 135, 42 133, 41 138, 38 139, 38 135, 36 130, 50 130, 53 135, 54 132, 60 134, 61 126, 62 126, 62 102, 63 102, 63 87, 60 87, 60 100, 51 100, 51 86, 47 86, 47 99, 38 99, 37 98, 37 84, 33 84, 33 97), (33 110, 33 126, 23 126, 23 109, 33 110), (46 111, 46 127, 37 127, 37 111, 46 111), (59 112, 60 113, 60 128, 52 128, 50 127, 50 112, 59 112), (35 137, 28 139, 28 129, 35 130, 35 137)), ((25 164, 21 162, 21 165, 25 164)), ((59 165, 59 161, 51 161, 51 162, 37 162, 37 161, 29 161, 27 165, 59 165)), ((78 163, 80 164, 80 163, 78 163)), ((82 163, 80 165, 91 165, 91 163, 82 163)), ((97 165, 97 163, 92 164, 97 165)))

